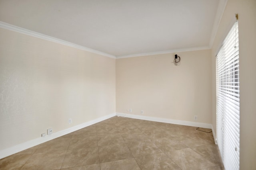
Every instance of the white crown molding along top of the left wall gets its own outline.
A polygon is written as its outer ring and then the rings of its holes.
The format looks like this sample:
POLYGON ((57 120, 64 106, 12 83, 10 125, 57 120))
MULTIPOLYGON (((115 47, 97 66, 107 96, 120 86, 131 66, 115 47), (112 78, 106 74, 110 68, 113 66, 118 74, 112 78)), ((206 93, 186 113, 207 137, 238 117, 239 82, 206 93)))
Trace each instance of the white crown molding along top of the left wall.
POLYGON ((2 22, 2 21, 0 21, 0 27, 4 28, 4 29, 9 29, 11 31, 15 31, 15 32, 18 32, 18 33, 23 33, 23 34, 30 35, 30 36, 33 36, 33 37, 37 37, 37 38, 40 38, 40 39, 52 41, 54 43, 59 43, 59 44, 62 44, 62 45, 67 45, 67 46, 70 46, 70 47, 74 47, 76 49, 80 49, 80 50, 84 50, 84 51, 89 51, 89 52, 92 52, 92 53, 96 53, 96 54, 99 54, 99 55, 103 55, 103 56, 106 56, 106 57, 110 57, 110 58, 116 59, 116 56, 114 56, 114 55, 110 55, 110 54, 107 54, 107 53, 103 53, 101 51, 97 51, 97 50, 94 50, 94 49, 83 47, 81 45, 70 43, 68 41, 64 41, 64 40, 61 40, 61 39, 50 37, 48 35, 44 35, 44 34, 41 34, 41 33, 35 32, 35 31, 31 31, 31 30, 28 30, 28 29, 17 27, 15 25, 11 25, 9 23, 5 23, 5 22, 2 22))

